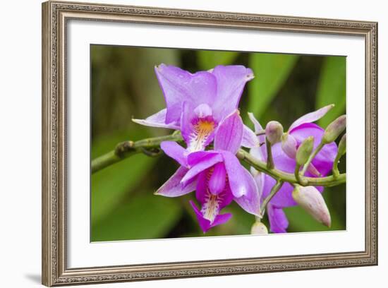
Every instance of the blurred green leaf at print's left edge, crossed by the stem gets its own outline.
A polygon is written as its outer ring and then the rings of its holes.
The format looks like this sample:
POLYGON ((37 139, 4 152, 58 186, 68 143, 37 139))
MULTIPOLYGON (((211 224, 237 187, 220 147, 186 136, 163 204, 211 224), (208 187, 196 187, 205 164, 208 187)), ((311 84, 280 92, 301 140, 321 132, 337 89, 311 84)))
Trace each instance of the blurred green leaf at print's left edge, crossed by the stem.
MULTIPOLYGON (((114 149, 117 143, 128 140, 129 135, 130 133, 116 133, 94 141, 92 159, 114 149)), ((136 138, 138 137, 132 139, 136 138)), ((92 224, 111 212, 131 188, 143 181, 155 162, 156 159, 152 157, 138 154, 92 174, 90 186, 92 224)))

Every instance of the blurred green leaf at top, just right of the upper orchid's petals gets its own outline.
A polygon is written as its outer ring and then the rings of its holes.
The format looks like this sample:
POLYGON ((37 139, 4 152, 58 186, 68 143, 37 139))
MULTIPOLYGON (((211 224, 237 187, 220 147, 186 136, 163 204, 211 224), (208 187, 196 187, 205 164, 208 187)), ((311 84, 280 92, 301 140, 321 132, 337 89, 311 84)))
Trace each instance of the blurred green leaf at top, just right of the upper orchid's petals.
POLYGON ((272 99, 289 78, 298 55, 255 53, 249 56, 249 67, 255 79, 248 85, 248 112, 262 116, 272 99))

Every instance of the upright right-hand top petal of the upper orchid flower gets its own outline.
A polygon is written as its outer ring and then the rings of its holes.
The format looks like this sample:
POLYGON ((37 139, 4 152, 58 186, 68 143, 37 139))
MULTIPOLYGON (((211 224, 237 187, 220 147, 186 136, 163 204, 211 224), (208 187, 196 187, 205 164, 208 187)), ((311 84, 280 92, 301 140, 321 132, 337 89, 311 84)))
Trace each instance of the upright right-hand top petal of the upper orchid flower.
POLYGON ((241 65, 219 65, 211 73, 217 78, 214 115, 217 121, 221 121, 238 107, 245 83, 254 78, 253 71, 241 65))

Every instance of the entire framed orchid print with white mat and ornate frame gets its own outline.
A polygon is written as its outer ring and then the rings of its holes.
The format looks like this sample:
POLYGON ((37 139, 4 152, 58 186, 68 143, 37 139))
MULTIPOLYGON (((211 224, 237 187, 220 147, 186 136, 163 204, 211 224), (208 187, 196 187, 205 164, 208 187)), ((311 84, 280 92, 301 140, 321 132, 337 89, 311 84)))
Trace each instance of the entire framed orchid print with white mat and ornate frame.
POLYGON ((42 4, 47 286, 377 265, 377 23, 42 4))

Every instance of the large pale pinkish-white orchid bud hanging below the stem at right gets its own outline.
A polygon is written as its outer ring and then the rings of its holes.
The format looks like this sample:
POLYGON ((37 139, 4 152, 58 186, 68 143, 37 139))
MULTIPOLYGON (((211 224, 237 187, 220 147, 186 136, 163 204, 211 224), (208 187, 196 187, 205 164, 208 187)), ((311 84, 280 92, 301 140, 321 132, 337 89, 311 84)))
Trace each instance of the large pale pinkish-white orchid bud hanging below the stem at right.
POLYGON ((292 191, 292 198, 315 220, 327 227, 331 226, 329 209, 317 188, 314 186, 296 186, 292 191))

